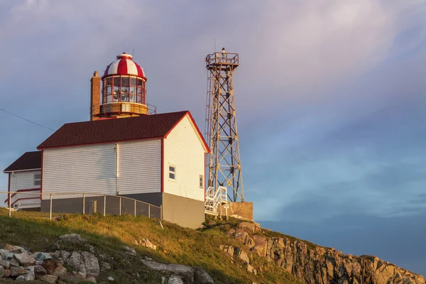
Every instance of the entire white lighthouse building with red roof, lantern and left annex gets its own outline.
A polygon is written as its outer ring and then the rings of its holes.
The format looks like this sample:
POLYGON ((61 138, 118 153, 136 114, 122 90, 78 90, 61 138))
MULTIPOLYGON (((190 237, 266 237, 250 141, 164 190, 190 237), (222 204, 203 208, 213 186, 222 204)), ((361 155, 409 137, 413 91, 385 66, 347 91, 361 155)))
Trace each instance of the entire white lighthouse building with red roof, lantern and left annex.
MULTIPOLYGON (((31 203, 48 212, 52 198, 53 212, 79 213, 86 202, 115 195, 162 207, 167 221, 200 226, 209 148, 190 112, 152 114, 145 73, 126 53, 108 65, 102 78, 94 72, 91 82, 91 120, 63 125, 38 152, 24 154, 4 171, 10 192, 43 194, 41 200, 13 195, 13 205, 31 203), (30 155, 38 160, 29 163, 30 155)), ((117 206, 120 212, 122 207, 131 211, 124 203, 117 206)))

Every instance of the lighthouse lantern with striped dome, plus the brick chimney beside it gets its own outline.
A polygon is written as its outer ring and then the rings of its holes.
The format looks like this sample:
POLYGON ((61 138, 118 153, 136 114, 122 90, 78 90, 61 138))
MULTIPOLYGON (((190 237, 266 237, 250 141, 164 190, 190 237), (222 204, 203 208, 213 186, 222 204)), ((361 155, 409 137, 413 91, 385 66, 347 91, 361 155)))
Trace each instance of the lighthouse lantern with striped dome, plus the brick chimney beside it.
POLYGON ((146 114, 146 77, 132 55, 117 55, 116 60, 107 65, 102 78, 94 72, 91 80, 92 121, 146 114))

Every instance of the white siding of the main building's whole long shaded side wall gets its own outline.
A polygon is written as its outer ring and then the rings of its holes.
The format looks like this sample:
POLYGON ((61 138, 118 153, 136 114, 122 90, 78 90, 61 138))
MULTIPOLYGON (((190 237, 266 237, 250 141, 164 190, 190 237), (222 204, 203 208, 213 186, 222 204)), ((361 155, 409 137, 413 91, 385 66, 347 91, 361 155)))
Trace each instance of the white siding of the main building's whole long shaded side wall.
MULTIPOLYGON (((119 191, 120 195, 127 195, 160 192, 160 139, 118 144, 118 178, 116 143, 45 149, 43 193, 115 195, 119 191)), ((43 199, 48 198, 48 195, 43 196, 43 199)))

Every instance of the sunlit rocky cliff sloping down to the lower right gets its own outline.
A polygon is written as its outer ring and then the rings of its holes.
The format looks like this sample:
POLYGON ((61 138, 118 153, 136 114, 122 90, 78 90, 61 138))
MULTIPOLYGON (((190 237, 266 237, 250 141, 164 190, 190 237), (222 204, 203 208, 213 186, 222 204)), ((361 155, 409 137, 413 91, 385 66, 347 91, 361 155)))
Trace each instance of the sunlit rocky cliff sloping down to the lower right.
POLYGON ((262 229, 259 224, 241 222, 226 227, 227 236, 236 239, 241 248, 221 246, 230 257, 244 260, 248 271, 258 273, 262 266, 253 264, 254 255, 288 271, 302 283, 426 283, 422 275, 382 261, 375 256, 351 256, 331 248, 317 246, 290 236, 262 229))

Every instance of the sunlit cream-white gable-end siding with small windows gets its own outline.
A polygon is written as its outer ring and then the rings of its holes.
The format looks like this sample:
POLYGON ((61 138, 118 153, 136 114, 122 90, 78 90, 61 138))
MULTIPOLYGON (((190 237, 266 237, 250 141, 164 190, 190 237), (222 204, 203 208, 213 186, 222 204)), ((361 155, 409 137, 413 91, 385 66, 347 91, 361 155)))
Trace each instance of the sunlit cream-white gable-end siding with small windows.
POLYGON ((164 139, 164 192, 204 201, 200 175, 204 176, 204 148, 186 115, 164 139), (168 178, 169 165, 176 166, 176 180, 168 178))

